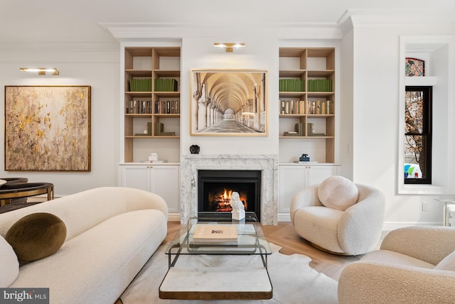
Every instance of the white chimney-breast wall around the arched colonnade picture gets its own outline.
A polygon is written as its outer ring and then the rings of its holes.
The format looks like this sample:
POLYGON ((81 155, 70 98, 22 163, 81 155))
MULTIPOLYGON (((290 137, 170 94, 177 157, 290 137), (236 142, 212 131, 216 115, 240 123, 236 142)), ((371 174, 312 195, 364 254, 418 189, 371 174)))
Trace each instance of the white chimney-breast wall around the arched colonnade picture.
POLYGON ((201 154, 278 154, 278 41, 267 33, 229 36, 184 37, 181 57, 181 153, 193 144, 201 154), (245 48, 225 53, 215 42, 242 42, 245 48), (191 69, 267 70, 269 85, 268 136, 190 136, 191 69))

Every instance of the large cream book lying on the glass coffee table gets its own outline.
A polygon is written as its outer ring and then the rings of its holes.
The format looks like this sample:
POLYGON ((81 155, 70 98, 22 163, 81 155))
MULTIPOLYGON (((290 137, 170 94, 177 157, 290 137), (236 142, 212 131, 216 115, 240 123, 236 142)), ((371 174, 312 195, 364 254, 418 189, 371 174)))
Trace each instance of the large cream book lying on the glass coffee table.
POLYGON ((198 224, 193 234, 195 244, 220 244, 237 241, 237 225, 198 224))

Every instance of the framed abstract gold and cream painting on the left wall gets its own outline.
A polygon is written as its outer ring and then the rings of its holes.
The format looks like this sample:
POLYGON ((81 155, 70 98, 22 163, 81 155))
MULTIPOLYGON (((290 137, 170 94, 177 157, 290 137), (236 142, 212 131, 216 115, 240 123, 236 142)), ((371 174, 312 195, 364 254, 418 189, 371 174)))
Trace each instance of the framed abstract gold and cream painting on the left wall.
POLYGON ((90 91, 5 86, 5 170, 90 171, 90 91))

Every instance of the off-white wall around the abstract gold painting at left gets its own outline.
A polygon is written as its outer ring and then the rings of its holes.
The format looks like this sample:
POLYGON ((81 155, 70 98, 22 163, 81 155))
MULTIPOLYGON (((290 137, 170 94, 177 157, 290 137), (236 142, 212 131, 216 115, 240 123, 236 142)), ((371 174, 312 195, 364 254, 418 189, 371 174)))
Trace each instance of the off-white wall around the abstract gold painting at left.
MULTIPOLYGON (((97 45, 97 48, 99 45, 97 45)), ((93 50, 74 45, 14 45, 0 50, 0 112, 4 113, 5 85, 90 85, 90 172, 4 171, 0 178, 24 177, 29 182, 53 183, 55 195, 69 195, 90 188, 117 185, 119 160, 119 47, 93 50), (19 67, 57 67, 60 76, 38 76, 19 67)), ((4 159, 4 115, 1 116, 0 159, 4 159)))

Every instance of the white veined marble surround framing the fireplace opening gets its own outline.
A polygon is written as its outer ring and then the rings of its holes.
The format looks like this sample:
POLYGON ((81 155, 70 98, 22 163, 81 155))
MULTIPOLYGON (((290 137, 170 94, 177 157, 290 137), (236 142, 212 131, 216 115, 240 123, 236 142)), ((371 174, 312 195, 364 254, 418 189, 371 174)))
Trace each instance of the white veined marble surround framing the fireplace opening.
POLYGON ((278 155, 186 154, 181 156, 180 218, 198 214, 198 170, 261 170, 261 223, 278 224, 278 155))

